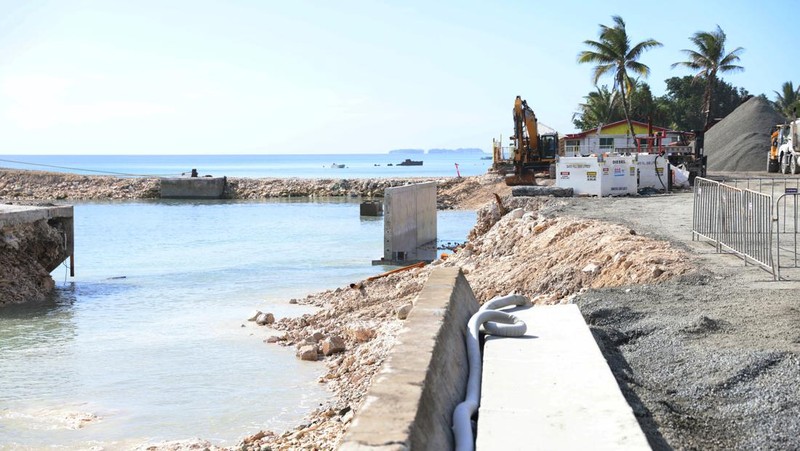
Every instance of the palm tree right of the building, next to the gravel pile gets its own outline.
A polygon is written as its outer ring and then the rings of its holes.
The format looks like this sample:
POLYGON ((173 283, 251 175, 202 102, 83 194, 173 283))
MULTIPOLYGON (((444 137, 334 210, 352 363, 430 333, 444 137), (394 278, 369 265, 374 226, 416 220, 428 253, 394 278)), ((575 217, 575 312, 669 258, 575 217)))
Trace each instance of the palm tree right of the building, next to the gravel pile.
POLYGON ((697 46, 697 50, 681 50, 689 57, 688 61, 680 61, 672 65, 684 66, 696 70, 695 80, 705 79, 706 88, 703 93, 703 109, 705 112, 705 128, 711 122, 711 107, 713 105, 711 93, 717 83, 717 74, 725 72, 742 71, 742 66, 737 66, 739 55, 744 52, 742 47, 736 47, 730 53, 725 53, 725 32, 717 25, 715 31, 698 31, 689 38, 697 46))

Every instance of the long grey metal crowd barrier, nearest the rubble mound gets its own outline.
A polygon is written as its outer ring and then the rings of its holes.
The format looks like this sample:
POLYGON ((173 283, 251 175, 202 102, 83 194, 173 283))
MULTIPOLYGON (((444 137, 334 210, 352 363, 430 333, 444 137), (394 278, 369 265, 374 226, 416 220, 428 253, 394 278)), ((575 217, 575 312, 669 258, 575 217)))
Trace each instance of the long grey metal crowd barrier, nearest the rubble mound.
POLYGON ((697 177, 692 241, 711 240, 717 252, 732 252, 780 277, 773 259, 772 196, 697 177))

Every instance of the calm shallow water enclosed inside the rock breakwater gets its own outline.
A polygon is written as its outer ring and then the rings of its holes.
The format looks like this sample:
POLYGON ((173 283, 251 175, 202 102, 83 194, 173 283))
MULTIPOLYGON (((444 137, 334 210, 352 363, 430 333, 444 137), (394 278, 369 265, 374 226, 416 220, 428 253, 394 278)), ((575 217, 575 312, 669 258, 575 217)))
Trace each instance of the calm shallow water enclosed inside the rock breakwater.
MULTIPOLYGON (((474 221, 439 212, 440 241, 474 221)), ((0 448, 233 445, 291 427, 328 396, 325 367, 245 319, 304 313, 288 300, 386 269, 370 264, 382 219, 348 199, 82 203, 75 224, 76 277, 56 269, 51 303, 0 310, 0 448)))

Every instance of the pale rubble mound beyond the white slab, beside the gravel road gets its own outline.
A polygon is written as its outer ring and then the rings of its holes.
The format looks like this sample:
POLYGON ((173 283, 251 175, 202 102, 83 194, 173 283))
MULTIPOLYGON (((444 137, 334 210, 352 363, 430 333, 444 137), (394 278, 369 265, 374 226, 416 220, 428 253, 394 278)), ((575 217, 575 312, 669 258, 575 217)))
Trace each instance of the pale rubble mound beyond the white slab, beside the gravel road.
POLYGON ((531 201, 476 236, 485 228, 481 221, 496 218, 479 215, 470 241, 447 261, 468 272, 479 300, 515 291, 542 303, 566 302, 583 288, 657 283, 691 268, 683 252, 626 227, 542 214, 552 202, 531 201))

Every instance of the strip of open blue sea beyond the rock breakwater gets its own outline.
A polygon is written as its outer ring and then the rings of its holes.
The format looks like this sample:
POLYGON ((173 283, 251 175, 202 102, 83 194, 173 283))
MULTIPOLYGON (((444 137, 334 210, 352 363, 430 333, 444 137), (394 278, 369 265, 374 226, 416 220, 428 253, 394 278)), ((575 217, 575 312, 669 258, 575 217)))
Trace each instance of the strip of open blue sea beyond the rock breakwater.
POLYGON ((0 155, 0 167, 76 174, 176 176, 197 169, 216 177, 388 178, 485 174, 490 160, 472 154, 337 155, 0 155), (397 166, 405 159, 422 166, 397 166), (333 168, 333 164, 345 165, 333 168), (392 166, 389 166, 389 165, 392 166), (456 168, 458 165, 458 168, 456 168))

